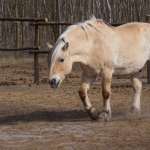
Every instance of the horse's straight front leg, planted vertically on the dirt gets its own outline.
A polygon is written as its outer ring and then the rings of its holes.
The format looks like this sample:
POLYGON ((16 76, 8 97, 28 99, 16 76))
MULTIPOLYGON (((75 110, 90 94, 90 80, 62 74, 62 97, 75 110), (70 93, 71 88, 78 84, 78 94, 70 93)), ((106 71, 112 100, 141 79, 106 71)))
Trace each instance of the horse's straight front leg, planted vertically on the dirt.
POLYGON ((99 118, 104 118, 108 121, 111 117, 110 109, 110 94, 111 94, 111 80, 112 80, 112 70, 104 69, 102 72, 102 95, 103 95, 103 109, 99 118))

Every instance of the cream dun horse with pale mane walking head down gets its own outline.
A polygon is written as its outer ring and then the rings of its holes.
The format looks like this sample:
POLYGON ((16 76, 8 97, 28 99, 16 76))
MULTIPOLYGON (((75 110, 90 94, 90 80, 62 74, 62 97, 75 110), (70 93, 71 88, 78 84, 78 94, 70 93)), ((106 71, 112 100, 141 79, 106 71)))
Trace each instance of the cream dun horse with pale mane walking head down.
POLYGON ((73 63, 83 70, 78 91, 85 110, 92 120, 108 121, 111 117, 110 96, 112 77, 130 76, 134 98, 129 114, 140 116, 141 69, 150 60, 150 25, 132 22, 118 27, 92 17, 69 26, 60 35, 48 57, 48 79, 58 88, 72 70, 73 63), (90 103, 87 91, 97 76, 102 79, 103 109, 99 114, 90 103))

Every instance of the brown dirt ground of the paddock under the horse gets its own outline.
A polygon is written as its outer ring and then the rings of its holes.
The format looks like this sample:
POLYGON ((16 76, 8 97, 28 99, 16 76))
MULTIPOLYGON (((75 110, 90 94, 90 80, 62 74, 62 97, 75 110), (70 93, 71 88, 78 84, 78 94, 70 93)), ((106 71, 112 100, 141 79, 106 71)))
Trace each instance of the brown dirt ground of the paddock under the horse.
MULTIPOLYGON (((133 99, 130 79, 112 83, 109 122, 92 121, 78 96, 81 70, 76 64, 58 89, 47 83, 46 63, 40 64, 40 83, 33 83, 33 64, 0 66, 0 149, 149 150, 150 85, 142 71, 141 117, 126 119, 133 99)), ((102 109, 101 80, 88 92, 92 105, 102 109)))

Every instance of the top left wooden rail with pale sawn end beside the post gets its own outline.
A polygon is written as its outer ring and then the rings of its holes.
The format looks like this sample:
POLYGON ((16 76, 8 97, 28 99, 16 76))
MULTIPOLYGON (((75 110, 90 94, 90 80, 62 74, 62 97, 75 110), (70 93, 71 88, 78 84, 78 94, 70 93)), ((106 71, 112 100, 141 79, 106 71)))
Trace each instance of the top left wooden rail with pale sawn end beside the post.
POLYGON ((7 17, 7 18, 0 18, 0 21, 42 21, 42 22, 48 22, 47 18, 44 19, 37 19, 37 18, 18 18, 18 17, 7 17))

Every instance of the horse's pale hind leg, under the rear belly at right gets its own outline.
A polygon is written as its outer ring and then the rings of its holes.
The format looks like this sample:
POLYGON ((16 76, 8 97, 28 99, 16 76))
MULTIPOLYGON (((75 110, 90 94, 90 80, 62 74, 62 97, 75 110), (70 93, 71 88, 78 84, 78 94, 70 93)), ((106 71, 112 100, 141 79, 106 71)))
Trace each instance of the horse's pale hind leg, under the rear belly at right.
POLYGON ((131 106, 131 113, 137 116, 140 115, 140 96, 141 96, 141 89, 142 89, 140 74, 141 73, 138 72, 131 76, 131 81, 133 83, 133 90, 134 90, 134 98, 131 106))

